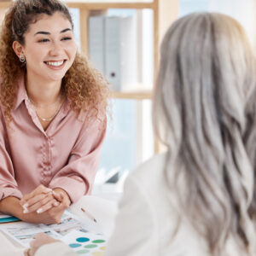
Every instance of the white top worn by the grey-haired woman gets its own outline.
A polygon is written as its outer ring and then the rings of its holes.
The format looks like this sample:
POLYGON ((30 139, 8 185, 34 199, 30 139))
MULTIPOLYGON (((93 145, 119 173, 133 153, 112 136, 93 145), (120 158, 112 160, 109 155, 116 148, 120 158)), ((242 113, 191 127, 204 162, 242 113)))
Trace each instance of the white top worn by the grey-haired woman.
MULTIPOLYGON (((113 236, 104 256, 210 255, 207 242, 178 213, 175 199, 170 201, 170 189, 164 175, 165 157, 165 154, 154 156, 127 177, 113 236), (178 218, 181 224, 173 238, 178 218)), ((36 253, 36 256, 54 255, 54 247, 46 250, 47 247, 44 246, 44 254, 36 253)), ((240 255, 231 240, 226 252, 226 256, 240 255)))

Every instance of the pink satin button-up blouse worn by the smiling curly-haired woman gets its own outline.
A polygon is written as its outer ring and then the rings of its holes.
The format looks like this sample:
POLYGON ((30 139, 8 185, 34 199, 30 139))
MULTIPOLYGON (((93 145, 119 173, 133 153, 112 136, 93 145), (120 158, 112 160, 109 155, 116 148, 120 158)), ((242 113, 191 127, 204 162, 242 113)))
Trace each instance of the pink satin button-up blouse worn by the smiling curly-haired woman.
POLYGON ((0 200, 21 198, 39 184, 66 190, 72 202, 90 194, 106 133, 104 119, 88 125, 66 101, 44 131, 23 77, 9 126, 0 110, 0 200))

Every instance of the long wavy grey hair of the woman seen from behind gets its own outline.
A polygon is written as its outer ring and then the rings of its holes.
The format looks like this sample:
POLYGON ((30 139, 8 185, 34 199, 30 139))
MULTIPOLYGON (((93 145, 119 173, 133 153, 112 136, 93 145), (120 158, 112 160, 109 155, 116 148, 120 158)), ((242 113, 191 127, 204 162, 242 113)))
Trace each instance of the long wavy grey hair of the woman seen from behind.
POLYGON ((168 185, 212 255, 230 237, 255 253, 255 73, 246 34, 226 15, 185 16, 161 44, 154 131, 168 185))

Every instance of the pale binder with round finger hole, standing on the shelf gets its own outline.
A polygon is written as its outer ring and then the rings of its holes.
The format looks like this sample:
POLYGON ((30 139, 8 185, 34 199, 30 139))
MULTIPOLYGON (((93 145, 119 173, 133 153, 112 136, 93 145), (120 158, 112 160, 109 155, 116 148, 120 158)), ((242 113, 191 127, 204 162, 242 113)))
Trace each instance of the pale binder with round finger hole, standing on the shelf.
POLYGON ((114 90, 137 83, 137 29, 132 16, 105 18, 105 75, 114 90))

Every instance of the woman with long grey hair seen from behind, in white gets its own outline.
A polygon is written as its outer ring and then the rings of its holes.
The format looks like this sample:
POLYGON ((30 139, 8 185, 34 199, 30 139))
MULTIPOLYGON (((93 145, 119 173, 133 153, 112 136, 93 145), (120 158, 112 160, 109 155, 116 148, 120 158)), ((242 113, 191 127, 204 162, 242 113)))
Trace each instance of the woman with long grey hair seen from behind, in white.
POLYGON ((153 108, 167 151, 127 178, 107 255, 255 255, 254 65, 229 16, 169 28, 153 108))

